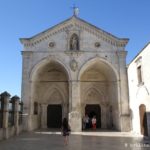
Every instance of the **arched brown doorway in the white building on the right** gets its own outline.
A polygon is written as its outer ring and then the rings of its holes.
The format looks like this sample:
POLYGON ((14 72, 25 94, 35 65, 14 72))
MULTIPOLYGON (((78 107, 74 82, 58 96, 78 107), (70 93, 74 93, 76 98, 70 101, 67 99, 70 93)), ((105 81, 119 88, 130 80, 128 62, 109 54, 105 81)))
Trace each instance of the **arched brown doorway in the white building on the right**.
POLYGON ((148 136, 147 115, 146 115, 146 107, 144 104, 140 105, 139 113, 140 113, 141 134, 144 136, 148 136))

